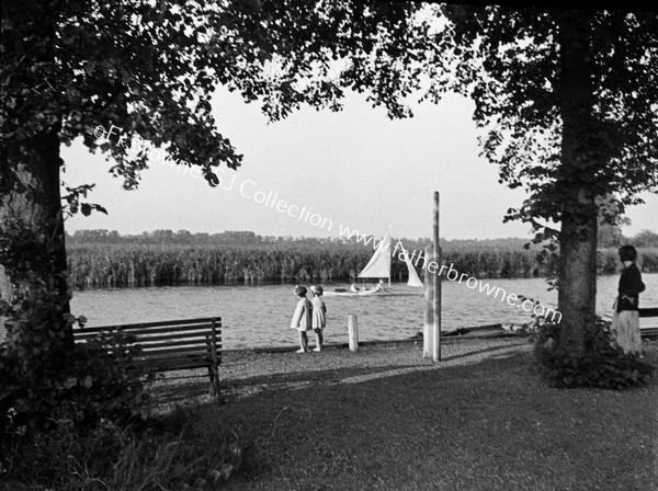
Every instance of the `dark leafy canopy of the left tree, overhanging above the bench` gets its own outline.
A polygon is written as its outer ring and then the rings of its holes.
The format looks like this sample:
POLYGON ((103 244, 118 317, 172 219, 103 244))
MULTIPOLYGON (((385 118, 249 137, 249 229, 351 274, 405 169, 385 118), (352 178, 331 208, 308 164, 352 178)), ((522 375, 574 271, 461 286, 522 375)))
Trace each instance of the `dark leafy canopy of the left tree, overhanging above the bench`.
MULTIPOLYGON (((308 103, 338 110, 344 88, 372 90, 374 104, 406 114, 415 85, 405 39, 418 5, 332 1, 11 1, 3 19, 3 144, 56 130, 77 137, 138 184, 147 167, 137 137, 185 165, 240 165, 211 114, 218 84, 261 100, 272 118, 308 103), (45 14, 47 13, 47 14, 45 14), (392 60, 399 59, 399 64, 392 60), (94 128, 123 130, 98 138, 94 128)), ((416 34, 412 34, 416 32, 416 34)), ((226 115, 230 117, 230 115, 226 115)), ((24 152, 26 155, 26 152, 24 152)), ((11 180, 3 174, 3 189, 11 180)))

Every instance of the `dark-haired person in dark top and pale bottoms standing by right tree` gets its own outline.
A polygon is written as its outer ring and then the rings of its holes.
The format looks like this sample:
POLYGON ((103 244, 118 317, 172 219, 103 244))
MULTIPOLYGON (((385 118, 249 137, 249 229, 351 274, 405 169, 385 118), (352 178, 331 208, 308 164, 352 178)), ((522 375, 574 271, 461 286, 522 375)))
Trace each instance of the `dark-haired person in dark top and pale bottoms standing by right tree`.
POLYGON ((624 353, 640 354, 639 294, 645 290, 642 274, 635 264, 637 251, 633 246, 620 248, 620 261, 624 264, 620 277, 619 296, 614 304, 612 331, 624 353))

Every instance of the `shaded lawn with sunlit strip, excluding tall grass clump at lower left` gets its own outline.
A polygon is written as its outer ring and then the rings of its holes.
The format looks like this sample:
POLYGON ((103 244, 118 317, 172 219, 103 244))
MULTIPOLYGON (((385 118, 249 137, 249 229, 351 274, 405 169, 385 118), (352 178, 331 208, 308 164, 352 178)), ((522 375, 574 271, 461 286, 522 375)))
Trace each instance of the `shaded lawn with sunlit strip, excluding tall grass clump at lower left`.
MULTIPOLYGON (((658 343, 645 343, 658 365, 658 343)), ((358 353, 232 352, 225 403, 189 406, 243 448, 229 490, 658 489, 658 381, 627 391, 555 389, 525 339, 358 353)), ((200 386, 201 387, 201 386, 200 386)))

